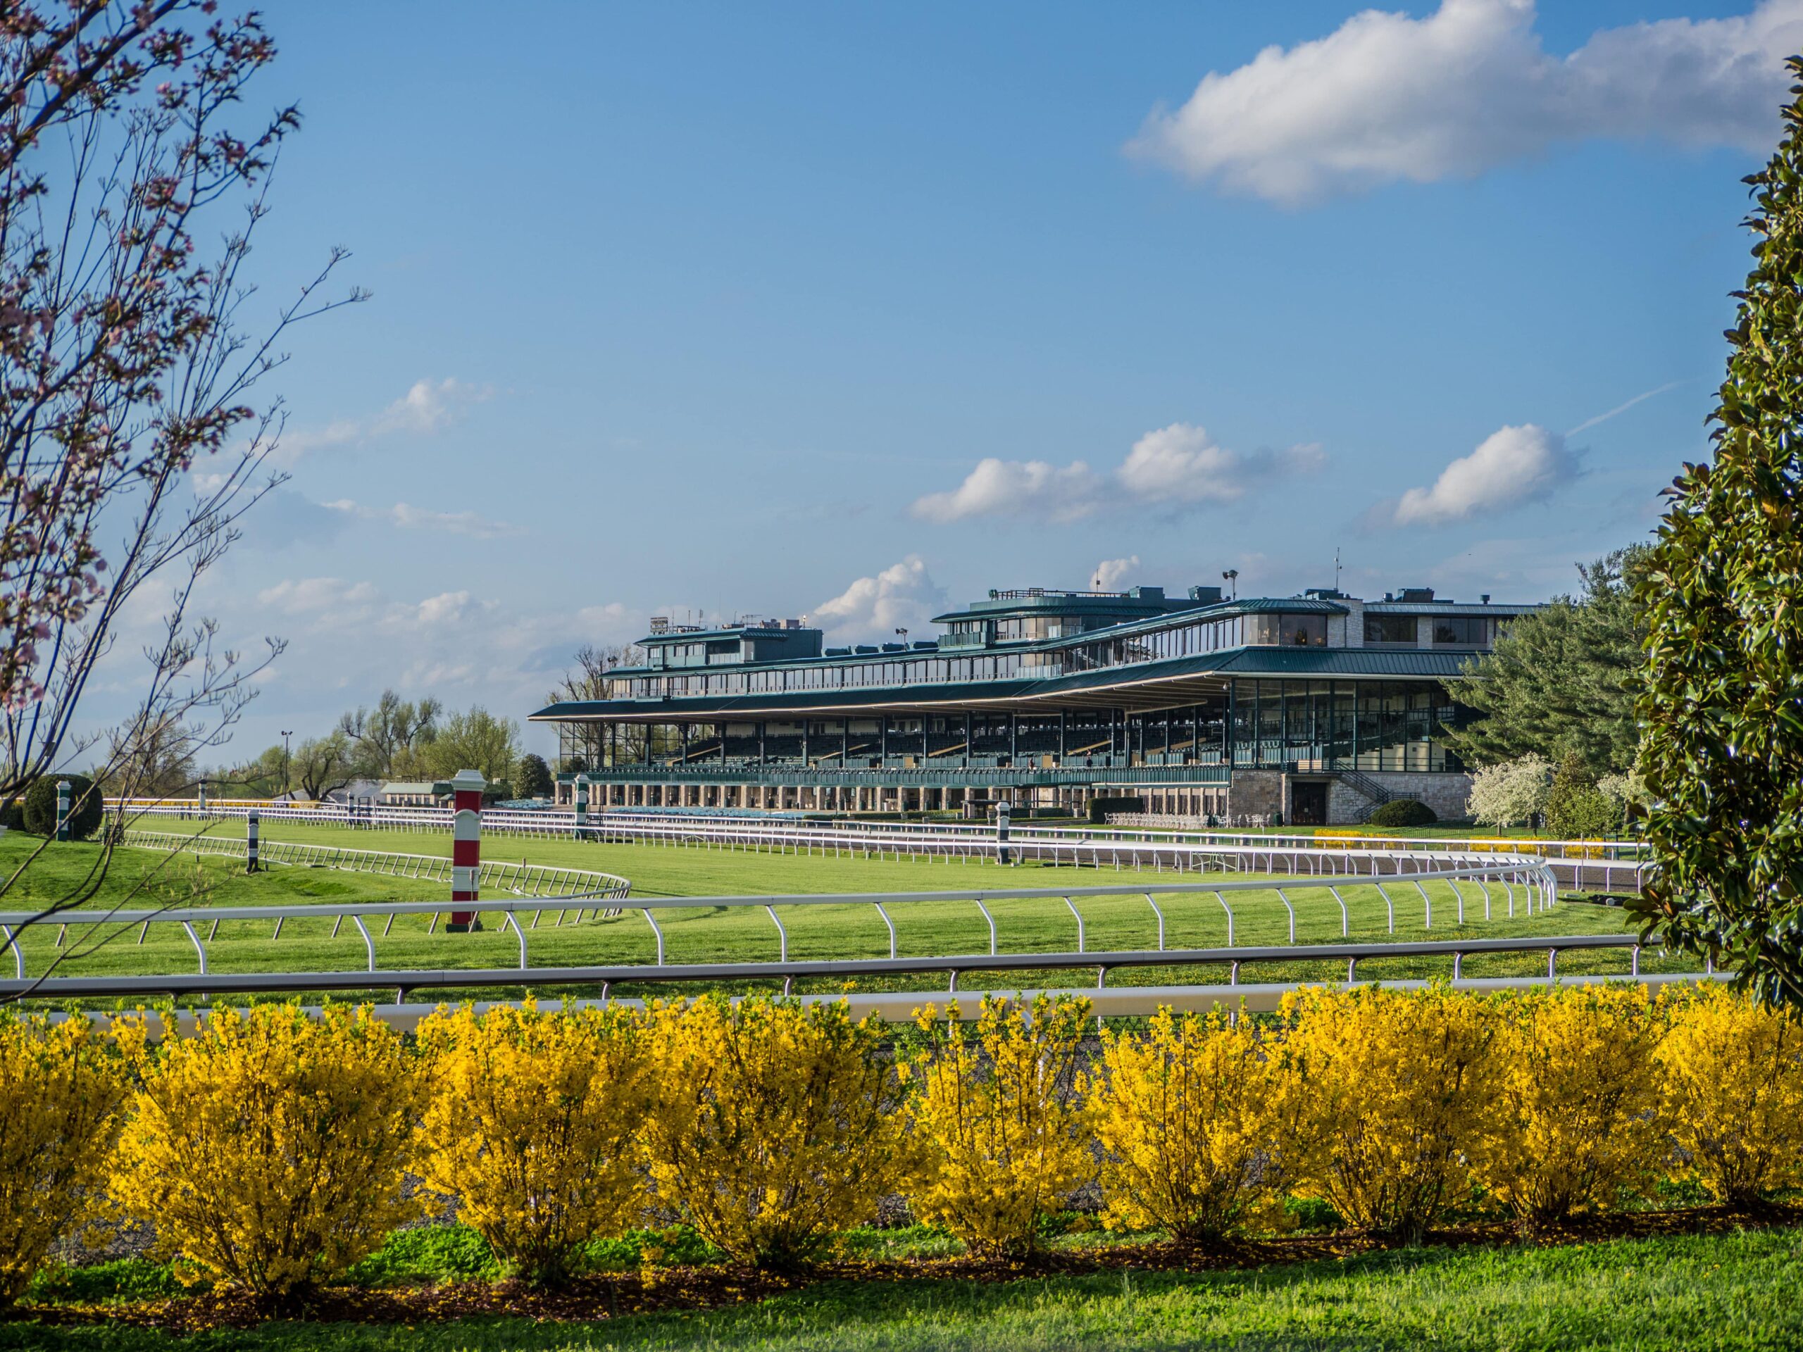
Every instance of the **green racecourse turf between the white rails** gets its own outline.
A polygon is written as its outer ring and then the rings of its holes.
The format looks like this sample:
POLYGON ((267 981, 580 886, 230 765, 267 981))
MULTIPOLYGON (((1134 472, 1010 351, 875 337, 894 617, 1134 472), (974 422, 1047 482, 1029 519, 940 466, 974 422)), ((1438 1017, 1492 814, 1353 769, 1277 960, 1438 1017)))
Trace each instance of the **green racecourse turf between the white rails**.
MULTIPOLYGON (((191 824, 169 822, 171 827, 195 829, 191 824)), ((213 835, 242 833, 242 822, 222 822, 213 835)), ((409 835, 352 831, 344 827, 308 827, 290 822, 272 824, 265 838, 299 844, 343 844, 361 849, 391 849, 418 854, 449 854, 451 842, 444 835, 409 835)), ((9 835, 0 840, 0 867, 7 872, 18 867, 38 842, 9 835)), ((680 898, 718 894, 819 894, 819 892, 896 892, 941 891, 959 887, 1098 887, 1120 883, 1121 894, 1080 901, 1085 921, 1085 945, 1091 950, 1154 948, 1158 923, 1145 898, 1132 892, 1136 882, 1158 878, 1174 882, 1174 874, 1075 869, 1026 863, 1001 867, 992 862, 929 862, 920 858, 858 858, 851 854, 770 854, 698 845, 617 845, 577 844, 570 840, 537 840, 525 836, 490 836, 489 858, 523 860, 530 863, 561 863, 600 869, 629 878, 635 896, 680 898)), ((22 910, 43 905, 59 896, 85 872, 97 853, 96 845, 52 845, 27 871, 5 909, 22 910)), ((346 900, 438 900, 445 896, 444 883, 379 878, 337 869, 272 867, 258 876, 245 876, 242 863, 180 854, 168 860, 153 851, 119 851, 106 878, 99 903, 133 907, 159 903, 184 905, 256 905, 283 901, 346 901, 346 900), (135 894, 133 894, 135 892, 135 894)), ((1186 878, 1194 878, 1188 874, 1186 878)), ((1350 912, 1354 939, 1385 939, 1388 912, 1376 887, 1352 883, 1340 889, 1350 912)), ((1565 903, 1551 914, 1527 918, 1518 905, 1516 916, 1506 914, 1500 889, 1493 891, 1491 919, 1484 919, 1478 892, 1466 887, 1466 925, 1457 923, 1457 903, 1448 883, 1428 883, 1433 898, 1433 927, 1424 927, 1424 907, 1412 883, 1392 885, 1396 903, 1397 939, 1453 939, 1504 937, 1549 934, 1614 934, 1625 928, 1623 914, 1614 909, 1587 903, 1565 903)), ((1341 937, 1340 905, 1325 891, 1293 891, 1296 907, 1296 939, 1300 943, 1332 943, 1341 937)), ((1289 937, 1287 912, 1275 892, 1257 892, 1231 898, 1235 909, 1237 945, 1277 945, 1289 937)), ((1213 896, 1163 898, 1167 945, 1219 946, 1228 939, 1226 916, 1213 896)), ((1002 952, 1057 952, 1076 946, 1076 923, 1058 898, 992 901, 999 946, 1002 952)), ((970 901, 918 901, 889 909, 898 930, 902 954, 981 954, 988 948, 988 927, 970 901)), ((788 928, 790 955, 797 959, 882 957, 887 954, 887 930, 873 907, 790 907, 783 914, 788 928)), ((764 961, 777 957, 777 932, 763 909, 694 907, 658 910, 658 923, 667 936, 665 957, 673 963, 705 961, 764 961)), ((624 914, 604 919, 572 919, 557 923, 555 912, 546 912, 534 928, 526 918, 530 961, 546 964, 600 964, 651 963, 656 957, 654 937, 644 914, 624 914)), ((371 923, 377 955, 382 966, 512 966, 519 946, 512 932, 503 932, 498 916, 489 916, 483 934, 451 936, 427 934, 424 916, 406 916, 393 921, 382 934, 382 921, 371 923)), ((72 936, 79 939, 79 934, 72 936)), ((193 972, 197 955, 186 934, 175 925, 151 925, 142 937, 133 927, 105 930, 106 943, 78 959, 65 959, 61 973, 124 973, 124 972, 193 972)), ((43 972, 56 957, 56 930, 34 927, 23 939, 27 970, 43 972)), ((344 923, 332 937, 332 921, 288 921, 281 937, 272 937, 267 921, 222 921, 207 943, 213 972, 267 972, 267 970, 348 970, 364 964, 364 946, 355 927, 344 923)), ((1671 970, 1686 963, 1670 959, 1671 970)), ((1561 959, 1567 972, 1625 970, 1626 954, 1570 955, 1561 959)), ((1361 973, 1379 975, 1433 975, 1450 972, 1442 959, 1387 959, 1361 964, 1361 973)), ((1538 954, 1520 957, 1469 959, 1468 975, 1533 973, 1545 970, 1538 954)), ((1659 961, 1646 959, 1646 970, 1659 970, 1659 961)), ((1150 968, 1116 972, 1112 984, 1170 984, 1188 981, 1219 981, 1219 970, 1150 968)), ((1246 968, 1246 981, 1332 979, 1343 975, 1340 964, 1269 964, 1246 968)), ((968 973, 961 984, 979 988, 981 972, 968 973)), ((1094 970, 1048 973, 1044 984, 1093 984, 1094 970)), ((835 982, 815 982, 819 990, 837 990, 835 982)), ((923 977, 896 977, 869 981, 867 988, 918 990, 934 984, 923 977)), ((993 984, 1008 984, 1006 981, 993 984)), ((1011 984, 1040 984, 1040 979, 1011 979, 1011 984)), ((802 986, 806 990, 806 986, 802 986)), ((629 993, 620 990, 617 993, 629 993)))

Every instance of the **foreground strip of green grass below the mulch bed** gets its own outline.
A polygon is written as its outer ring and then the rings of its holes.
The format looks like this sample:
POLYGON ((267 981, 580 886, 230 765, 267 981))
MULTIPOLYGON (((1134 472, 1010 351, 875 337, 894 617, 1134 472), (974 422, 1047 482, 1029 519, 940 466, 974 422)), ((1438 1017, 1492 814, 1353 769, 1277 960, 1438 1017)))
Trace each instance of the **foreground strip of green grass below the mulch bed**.
POLYGON ((709 1312, 606 1323, 265 1323, 189 1338, 123 1325, 0 1325, 41 1352, 1078 1352, 1120 1348, 1794 1348, 1803 1231, 1570 1247, 1424 1247, 1219 1273, 826 1282, 709 1312))

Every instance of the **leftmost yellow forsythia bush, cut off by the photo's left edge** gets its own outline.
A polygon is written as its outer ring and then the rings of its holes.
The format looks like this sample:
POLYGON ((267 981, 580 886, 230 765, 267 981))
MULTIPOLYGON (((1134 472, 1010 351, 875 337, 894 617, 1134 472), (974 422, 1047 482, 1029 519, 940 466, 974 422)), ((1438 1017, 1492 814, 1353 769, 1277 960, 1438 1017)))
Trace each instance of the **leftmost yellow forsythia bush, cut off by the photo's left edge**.
POLYGON ((87 1017, 0 1015, 0 1307, 106 1183, 121 1060, 87 1017))

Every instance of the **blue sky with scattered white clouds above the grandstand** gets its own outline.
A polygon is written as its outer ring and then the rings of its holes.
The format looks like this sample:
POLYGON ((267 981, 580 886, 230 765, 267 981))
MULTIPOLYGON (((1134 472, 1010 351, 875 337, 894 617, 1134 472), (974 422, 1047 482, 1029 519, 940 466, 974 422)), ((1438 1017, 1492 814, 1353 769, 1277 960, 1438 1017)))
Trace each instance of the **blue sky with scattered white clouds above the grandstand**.
POLYGON ((290 647, 229 754, 523 717, 653 613, 1569 589, 1706 454, 1803 0, 1354 14, 274 7, 261 276, 373 299, 267 388, 292 481, 202 602, 290 647))

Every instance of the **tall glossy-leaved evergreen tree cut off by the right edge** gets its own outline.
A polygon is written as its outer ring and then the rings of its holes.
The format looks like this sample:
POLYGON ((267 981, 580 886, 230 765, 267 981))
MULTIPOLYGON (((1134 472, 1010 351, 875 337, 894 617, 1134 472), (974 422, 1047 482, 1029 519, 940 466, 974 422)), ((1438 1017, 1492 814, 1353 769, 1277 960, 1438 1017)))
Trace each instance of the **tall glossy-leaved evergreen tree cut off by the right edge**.
MULTIPOLYGON (((1803 58, 1790 72, 1803 78, 1803 58)), ((1803 85, 1747 182, 1756 267, 1727 332, 1715 456, 1686 465, 1635 595, 1648 930, 1803 1006, 1803 85)))

